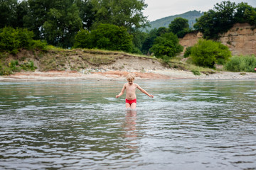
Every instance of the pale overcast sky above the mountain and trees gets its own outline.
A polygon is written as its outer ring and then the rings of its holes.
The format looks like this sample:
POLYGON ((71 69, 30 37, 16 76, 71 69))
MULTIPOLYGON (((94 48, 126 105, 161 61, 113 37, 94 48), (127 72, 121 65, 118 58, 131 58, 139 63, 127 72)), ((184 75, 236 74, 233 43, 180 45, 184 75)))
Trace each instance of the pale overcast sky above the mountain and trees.
MULTIPOLYGON (((230 1, 235 2, 235 4, 242 2, 230 1)), ((145 0, 148 7, 144 10, 144 16, 148 16, 149 21, 155 21, 166 16, 174 16, 193 10, 205 12, 213 9, 214 5, 220 2, 221 0, 145 0)), ((243 2, 256 8, 256 0, 244 0, 243 2)))

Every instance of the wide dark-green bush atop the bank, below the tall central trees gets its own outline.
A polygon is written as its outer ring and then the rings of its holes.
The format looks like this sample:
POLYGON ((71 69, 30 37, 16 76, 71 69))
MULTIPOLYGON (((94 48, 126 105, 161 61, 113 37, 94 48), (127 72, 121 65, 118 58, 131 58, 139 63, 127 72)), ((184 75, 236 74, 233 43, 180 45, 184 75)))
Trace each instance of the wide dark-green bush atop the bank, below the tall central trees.
POLYGON ((81 30, 75 36, 75 47, 130 52, 132 50, 132 35, 129 35, 124 27, 100 24, 91 33, 81 30))

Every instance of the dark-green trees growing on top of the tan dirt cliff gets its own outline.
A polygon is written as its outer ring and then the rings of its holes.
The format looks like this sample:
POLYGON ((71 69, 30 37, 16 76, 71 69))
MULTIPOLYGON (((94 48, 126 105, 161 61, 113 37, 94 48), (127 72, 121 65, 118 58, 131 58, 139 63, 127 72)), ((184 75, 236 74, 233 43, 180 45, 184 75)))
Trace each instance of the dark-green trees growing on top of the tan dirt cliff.
POLYGON ((227 32, 234 23, 250 23, 256 26, 256 8, 241 2, 222 1, 196 20, 194 28, 206 39, 217 39, 219 33, 227 32))

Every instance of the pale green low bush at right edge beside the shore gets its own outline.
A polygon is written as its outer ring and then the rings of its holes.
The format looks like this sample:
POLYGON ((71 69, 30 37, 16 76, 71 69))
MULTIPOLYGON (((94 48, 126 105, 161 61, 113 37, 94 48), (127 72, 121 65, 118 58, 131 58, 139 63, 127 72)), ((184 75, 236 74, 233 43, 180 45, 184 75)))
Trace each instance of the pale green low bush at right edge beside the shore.
POLYGON ((255 72, 256 57, 251 56, 234 56, 225 64, 225 69, 231 72, 255 72))

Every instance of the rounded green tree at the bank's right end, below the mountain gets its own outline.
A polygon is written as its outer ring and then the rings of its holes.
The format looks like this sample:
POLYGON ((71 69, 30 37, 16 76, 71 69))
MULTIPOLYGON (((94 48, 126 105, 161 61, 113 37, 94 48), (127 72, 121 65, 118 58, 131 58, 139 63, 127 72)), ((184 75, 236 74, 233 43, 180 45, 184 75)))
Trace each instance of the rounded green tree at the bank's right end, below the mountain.
POLYGON ((174 57, 183 51, 183 47, 178 43, 177 35, 174 33, 164 33, 154 40, 154 45, 150 48, 156 57, 165 59, 165 57, 174 57))

